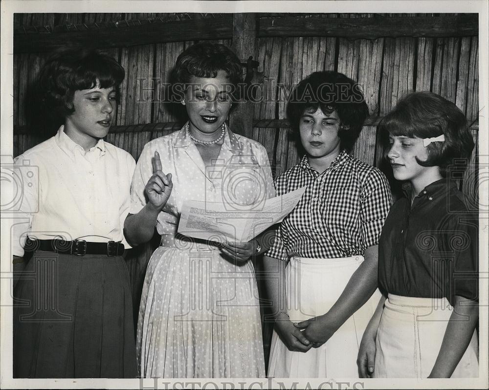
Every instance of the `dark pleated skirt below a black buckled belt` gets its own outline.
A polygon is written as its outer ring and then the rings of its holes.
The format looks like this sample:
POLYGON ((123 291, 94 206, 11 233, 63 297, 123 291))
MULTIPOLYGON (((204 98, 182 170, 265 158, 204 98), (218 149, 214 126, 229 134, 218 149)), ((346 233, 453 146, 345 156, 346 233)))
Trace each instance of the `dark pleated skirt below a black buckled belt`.
POLYGON ((37 251, 14 291, 14 378, 134 378, 129 274, 121 256, 37 251))

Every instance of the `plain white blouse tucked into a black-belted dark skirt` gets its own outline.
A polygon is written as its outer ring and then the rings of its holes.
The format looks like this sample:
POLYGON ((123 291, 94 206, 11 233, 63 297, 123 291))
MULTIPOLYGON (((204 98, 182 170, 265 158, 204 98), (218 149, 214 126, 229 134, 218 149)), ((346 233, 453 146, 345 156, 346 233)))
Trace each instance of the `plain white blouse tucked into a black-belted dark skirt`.
MULTIPOLYGON (((104 142, 88 152, 64 132, 14 160, 22 183, 18 219, 12 230, 12 255, 23 256, 27 236, 107 242, 124 239, 135 161, 104 142)), ((15 178, 14 178, 15 181, 15 178)))

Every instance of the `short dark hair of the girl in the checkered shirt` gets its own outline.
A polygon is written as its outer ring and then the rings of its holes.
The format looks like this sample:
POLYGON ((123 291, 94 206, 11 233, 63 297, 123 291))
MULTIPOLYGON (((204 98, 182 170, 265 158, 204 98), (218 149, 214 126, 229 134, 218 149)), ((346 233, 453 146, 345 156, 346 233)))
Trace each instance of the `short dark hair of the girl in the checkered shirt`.
POLYGON ((331 70, 314 72, 302 80, 292 91, 287 105, 287 117, 294 131, 304 112, 336 111, 341 128, 338 130, 341 149, 351 152, 363 122, 368 117, 368 106, 360 86, 343 73, 331 70))

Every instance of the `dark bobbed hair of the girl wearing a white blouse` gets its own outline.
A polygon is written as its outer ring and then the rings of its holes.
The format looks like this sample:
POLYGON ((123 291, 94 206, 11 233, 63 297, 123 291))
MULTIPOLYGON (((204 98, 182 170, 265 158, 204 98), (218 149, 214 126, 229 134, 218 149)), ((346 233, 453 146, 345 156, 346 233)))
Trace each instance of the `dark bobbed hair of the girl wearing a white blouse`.
POLYGON ((76 90, 114 87, 117 101, 124 68, 108 54, 94 49, 68 47, 55 52, 39 72, 36 91, 48 112, 64 121, 75 111, 76 90))

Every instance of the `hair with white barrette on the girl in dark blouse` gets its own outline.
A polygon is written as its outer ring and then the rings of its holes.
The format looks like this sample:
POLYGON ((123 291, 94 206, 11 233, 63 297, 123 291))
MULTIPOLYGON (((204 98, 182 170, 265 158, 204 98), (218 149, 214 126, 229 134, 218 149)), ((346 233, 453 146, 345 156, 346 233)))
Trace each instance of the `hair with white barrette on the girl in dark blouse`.
MULTIPOLYGON (((452 102, 432 92, 412 92, 404 96, 380 122, 384 157, 390 150, 389 133, 410 138, 432 138, 445 135, 444 142, 432 142, 426 147, 428 158, 422 167, 440 167, 445 177, 447 167, 455 158, 467 160, 474 149, 474 140, 464 113, 452 102)), ((458 164, 463 167, 463 161, 458 164)))

